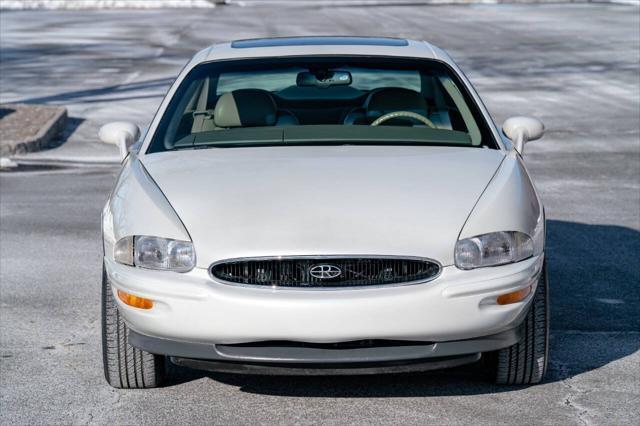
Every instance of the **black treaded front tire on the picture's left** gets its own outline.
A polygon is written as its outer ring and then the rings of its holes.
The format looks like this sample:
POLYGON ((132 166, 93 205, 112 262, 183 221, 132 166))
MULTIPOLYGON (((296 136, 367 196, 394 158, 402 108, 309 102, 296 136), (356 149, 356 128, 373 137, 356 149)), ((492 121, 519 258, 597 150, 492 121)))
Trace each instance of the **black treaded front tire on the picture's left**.
POLYGON ((104 377, 114 388, 159 386, 165 377, 165 357, 129 344, 129 328, 118 311, 109 278, 102 268, 102 362, 104 377))

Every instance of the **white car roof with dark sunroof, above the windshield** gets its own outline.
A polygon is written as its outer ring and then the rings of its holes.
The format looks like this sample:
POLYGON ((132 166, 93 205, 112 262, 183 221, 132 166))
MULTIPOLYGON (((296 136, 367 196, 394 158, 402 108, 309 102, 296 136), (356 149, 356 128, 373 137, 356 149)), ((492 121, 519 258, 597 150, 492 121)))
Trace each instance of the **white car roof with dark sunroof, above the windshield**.
POLYGON ((426 41, 392 37, 306 36, 257 38, 214 44, 196 54, 192 65, 224 59, 311 55, 397 56, 451 62, 443 50, 426 41))

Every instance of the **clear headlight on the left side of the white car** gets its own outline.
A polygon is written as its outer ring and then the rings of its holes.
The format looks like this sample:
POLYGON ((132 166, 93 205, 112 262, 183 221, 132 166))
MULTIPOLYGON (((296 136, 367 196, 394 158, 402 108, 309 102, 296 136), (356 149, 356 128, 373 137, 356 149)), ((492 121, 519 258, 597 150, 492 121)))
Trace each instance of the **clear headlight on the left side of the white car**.
POLYGON ((116 243, 113 255, 118 263, 147 269, 188 272, 196 264, 190 241, 159 237, 124 237, 116 243))

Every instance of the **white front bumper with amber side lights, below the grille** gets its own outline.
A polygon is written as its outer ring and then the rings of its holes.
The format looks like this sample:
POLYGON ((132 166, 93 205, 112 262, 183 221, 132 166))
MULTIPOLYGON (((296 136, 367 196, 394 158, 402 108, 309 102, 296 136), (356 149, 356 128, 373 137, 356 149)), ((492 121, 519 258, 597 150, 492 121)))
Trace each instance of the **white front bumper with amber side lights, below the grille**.
POLYGON ((105 268, 114 291, 154 301, 153 309, 140 310, 116 297, 130 328, 145 336, 205 344, 367 339, 437 343, 513 329, 532 296, 505 306, 495 298, 529 285, 535 291, 542 262, 540 255, 471 271, 449 266, 424 284, 331 290, 241 287, 217 283, 205 269, 186 274, 151 271, 107 258, 105 268))

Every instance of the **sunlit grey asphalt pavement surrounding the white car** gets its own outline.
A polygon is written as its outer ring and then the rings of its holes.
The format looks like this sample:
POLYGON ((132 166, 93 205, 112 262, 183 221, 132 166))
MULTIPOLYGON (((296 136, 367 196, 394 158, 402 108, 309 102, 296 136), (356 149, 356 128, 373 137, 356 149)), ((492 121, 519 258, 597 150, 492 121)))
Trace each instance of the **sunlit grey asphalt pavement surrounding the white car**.
MULTIPOLYGON (((637 424, 640 9, 621 5, 219 7, 3 12, 0 101, 62 104, 44 157, 111 158, 98 126, 145 126, 188 57, 228 39, 392 35, 447 49, 497 122, 534 115, 525 159, 545 202, 551 364, 498 387, 474 368, 377 377, 174 369, 164 388, 102 376, 99 215, 116 166, 0 173, 0 423, 637 424)), ((37 158, 37 157, 34 157, 37 158)))

